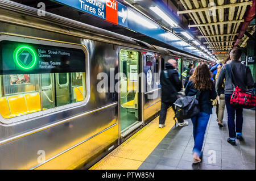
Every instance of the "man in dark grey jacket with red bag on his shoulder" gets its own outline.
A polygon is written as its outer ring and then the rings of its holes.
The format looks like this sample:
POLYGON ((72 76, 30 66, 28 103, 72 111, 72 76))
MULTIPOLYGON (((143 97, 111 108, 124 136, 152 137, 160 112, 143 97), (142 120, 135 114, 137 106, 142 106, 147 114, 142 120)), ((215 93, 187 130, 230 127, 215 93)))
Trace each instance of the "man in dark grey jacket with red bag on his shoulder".
POLYGON ((231 145, 236 145, 236 138, 242 140, 242 124, 243 124, 243 109, 233 107, 230 104, 230 98, 233 93, 233 85, 240 87, 242 90, 250 89, 254 87, 253 75, 248 66, 243 65, 240 62, 242 50, 240 48, 234 48, 230 52, 230 58, 232 61, 230 64, 222 66, 217 81, 217 94, 220 94, 222 83, 225 78, 225 103, 228 112, 228 128, 229 138, 228 142, 231 145), (233 73, 232 73, 233 72, 233 73), (236 124, 235 120, 236 112, 236 124))

